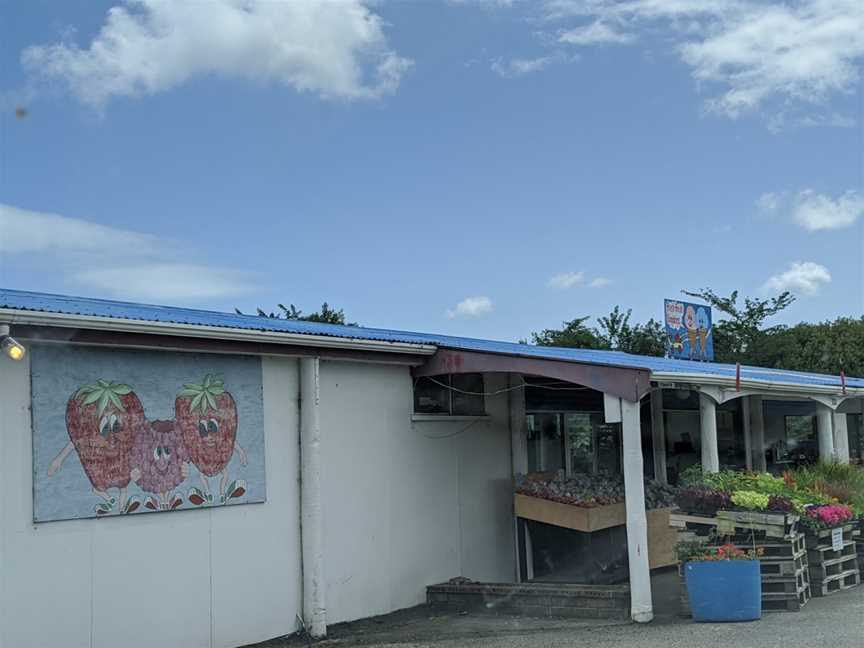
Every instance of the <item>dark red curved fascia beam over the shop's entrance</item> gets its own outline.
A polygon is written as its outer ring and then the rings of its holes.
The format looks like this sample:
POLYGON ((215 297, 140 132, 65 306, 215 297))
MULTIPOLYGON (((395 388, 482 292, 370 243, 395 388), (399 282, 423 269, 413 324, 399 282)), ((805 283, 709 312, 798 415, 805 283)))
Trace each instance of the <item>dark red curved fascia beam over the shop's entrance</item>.
POLYGON ((556 378, 633 402, 651 389, 651 372, 647 369, 452 349, 438 349, 424 364, 412 369, 415 377, 487 372, 556 378))

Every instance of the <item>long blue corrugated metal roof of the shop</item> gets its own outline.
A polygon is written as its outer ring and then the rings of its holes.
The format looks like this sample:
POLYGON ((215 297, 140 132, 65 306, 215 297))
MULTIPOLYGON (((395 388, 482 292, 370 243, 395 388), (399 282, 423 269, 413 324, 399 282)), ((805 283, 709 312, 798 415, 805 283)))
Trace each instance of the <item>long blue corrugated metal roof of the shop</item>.
MULTIPOLYGON (((568 349, 561 347, 541 347, 515 342, 500 342, 475 338, 415 333, 390 329, 369 328, 365 326, 340 326, 319 324, 297 320, 282 320, 258 315, 237 315, 216 311, 154 306, 132 302, 90 299, 34 293, 22 290, 0 289, 0 310, 17 309, 45 313, 65 313, 112 317, 142 322, 163 322, 195 326, 212 326, 225 329, 245 329, 250 331, 275 331, 305 335, 332 336, 356 340, 375 340, 380 342, 401 342, 423 344, 447 349, 482 351, 506 355, 520 355, 549 360, 564 360, 589 364, 647 369, 651 372, 717 376, 735 378, 735 365, 672 360, 654 356, 637 356, 620 351, 596 351, 591 349, 568 349)), ((801 386, 840 387, 839 376, 802 373, 763 367, 741 367, 743 380, 759 380, 801 386)), ((849 387, 864 388, 864 379, 847 378, 849 387)))

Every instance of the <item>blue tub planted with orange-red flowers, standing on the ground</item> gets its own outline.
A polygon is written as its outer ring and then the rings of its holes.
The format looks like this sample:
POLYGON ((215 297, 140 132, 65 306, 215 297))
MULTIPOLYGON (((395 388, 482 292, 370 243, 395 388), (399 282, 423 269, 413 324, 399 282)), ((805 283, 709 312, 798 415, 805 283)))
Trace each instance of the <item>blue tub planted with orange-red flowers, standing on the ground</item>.
POLYGON ((762 576, 759 552, 735 545, 707 547, 682 543, 683 564, 693 620, 705 622, 755 621, 762 618, 762 576))

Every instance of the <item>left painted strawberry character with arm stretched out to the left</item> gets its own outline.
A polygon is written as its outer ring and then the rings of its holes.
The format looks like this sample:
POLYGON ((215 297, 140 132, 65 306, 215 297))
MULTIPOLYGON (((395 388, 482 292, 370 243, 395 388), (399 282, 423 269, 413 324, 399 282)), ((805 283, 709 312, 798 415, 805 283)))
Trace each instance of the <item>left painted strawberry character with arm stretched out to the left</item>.
POLYGON ((135 498, 127 499, 132 444, 144 426, 144 407, 129 385, 97 380, 75 391, 66 404, 66 431, 69 443, 48 467, 58 472, 74 449, 93 492, 102 498, 97 515, 105 515, 119 502, 119 512, 138 508, 135 498), (118 489, 118 498, 108 491, 118 489))

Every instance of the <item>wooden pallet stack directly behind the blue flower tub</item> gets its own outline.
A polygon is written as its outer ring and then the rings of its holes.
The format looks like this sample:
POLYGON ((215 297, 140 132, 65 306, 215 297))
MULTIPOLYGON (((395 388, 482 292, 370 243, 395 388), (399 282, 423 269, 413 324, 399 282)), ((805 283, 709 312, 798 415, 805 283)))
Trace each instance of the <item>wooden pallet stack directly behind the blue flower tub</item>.
MULTIPOLYGON (((797 612, 810 600, 808 554, 798 517, 788 513, 718 511, 716 518, 673 513, 670 521, 682 540, 716 543, 718 538, 742 549, 761 550, 762 610, 797 612)), ((689 615, 681 586, 682 614, 689 615)))

